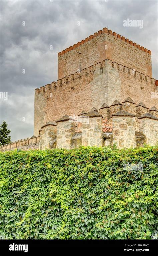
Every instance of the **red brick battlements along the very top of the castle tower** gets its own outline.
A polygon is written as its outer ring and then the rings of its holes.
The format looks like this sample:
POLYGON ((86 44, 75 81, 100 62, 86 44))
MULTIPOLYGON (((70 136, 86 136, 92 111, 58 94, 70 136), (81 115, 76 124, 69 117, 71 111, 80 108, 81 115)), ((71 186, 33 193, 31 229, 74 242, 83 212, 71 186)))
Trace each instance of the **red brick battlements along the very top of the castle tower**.
POLYGON ((140 45, 137 45, 136 43, 133 43, 133 41, 129 40, 129 39, 125 39, 125 37, 123 36, 120 36, 119 34, 116 34, 115 32, 112 32, 112 30, 108 30, 108 28, 104 27, 103 30, 99 30, 98 33, 94 33, 93 35, 87 37, 85 40, 81 40, 81 42, 78 42, 77 44, 74 44, 73 46, 70 46, 69 48, 66 48, 65 50, 63 50, 62 52, 59 52, 58 53, 58 56, 62 56, 63 54, 69 52, 69 51, 72 51, 73 49, 79 47, 80 45, 83 45, 85 43, 87 43, 88 41, 94 39, 95 37, 98 37, 102 34, 110 34, 116 38, 118 38, 119 40, 122 40, 124 42, 126 42, 127 44, 130 44, 132 45, 133 47, 136 47, 138 48, 139 50, 141 51, 144 51, 145 53, 148 53, 151 55, 151 51, 144 48, 143 46, 140 46, 140 45))

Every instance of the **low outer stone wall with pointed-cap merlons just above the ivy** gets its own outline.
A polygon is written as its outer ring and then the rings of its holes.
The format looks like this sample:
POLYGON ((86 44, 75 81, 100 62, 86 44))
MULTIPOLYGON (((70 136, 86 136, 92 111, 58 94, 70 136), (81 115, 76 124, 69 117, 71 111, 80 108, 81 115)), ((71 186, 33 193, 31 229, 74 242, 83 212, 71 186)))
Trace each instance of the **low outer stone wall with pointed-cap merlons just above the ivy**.
POLYGON ((119 148, 158 143, 158 109, 146 108, 143 102, 136 103, 128 97, 123 102, 115 100, 111 107, 103 103, 97 110, 82 111, 79 117, 65 115, 48 122, 39 131, 39 136, 15 141, 1 147, 2 151, 14 148, 73 149, 79 146, 109 146, 119 148), (127 111, 128 110, 128 111, 127 111), (144 113, 146 112, 146 113, 144 113))

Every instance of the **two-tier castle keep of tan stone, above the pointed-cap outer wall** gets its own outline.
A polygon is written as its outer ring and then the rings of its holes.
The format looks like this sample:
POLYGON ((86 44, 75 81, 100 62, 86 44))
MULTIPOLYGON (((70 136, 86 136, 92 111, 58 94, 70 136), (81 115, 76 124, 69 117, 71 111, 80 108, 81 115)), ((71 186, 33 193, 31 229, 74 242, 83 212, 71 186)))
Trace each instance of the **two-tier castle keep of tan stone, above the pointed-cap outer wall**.
POLYGON ((58 53, 58 80, 35 90, 34 135, 48 122, 115 100, 124 103, 123 109, 129 97, 130 105, 158 108, 157 98, 151 97, 156 88, 151 51, 103 28, 58 53))

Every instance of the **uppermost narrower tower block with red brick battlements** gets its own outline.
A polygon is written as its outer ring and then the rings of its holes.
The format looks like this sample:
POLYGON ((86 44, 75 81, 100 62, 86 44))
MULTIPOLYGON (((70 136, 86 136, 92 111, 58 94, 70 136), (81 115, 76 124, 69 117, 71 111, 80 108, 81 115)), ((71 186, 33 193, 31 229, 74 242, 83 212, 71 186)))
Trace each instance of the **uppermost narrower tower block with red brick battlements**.
POLYGON ((151 51, 105 27, 58 54, 58 79, 105 59, 152 77, 151 51))

